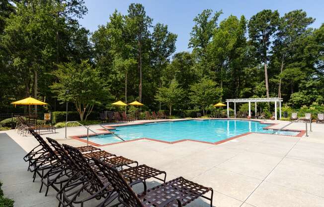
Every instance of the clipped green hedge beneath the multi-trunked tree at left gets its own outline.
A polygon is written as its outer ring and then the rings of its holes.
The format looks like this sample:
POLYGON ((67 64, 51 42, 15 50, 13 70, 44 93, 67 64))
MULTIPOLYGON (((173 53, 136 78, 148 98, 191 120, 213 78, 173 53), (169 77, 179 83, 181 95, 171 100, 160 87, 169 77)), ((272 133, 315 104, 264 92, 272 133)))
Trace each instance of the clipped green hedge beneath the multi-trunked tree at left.
MULTIPOLYGON (((84 116, 85 118, 85 116, 84 116)), ((52 123, 58 123, 61 121, 65 121, 66 119, 66 111, 54 111, 52 112, 52 123)), ((90 115, 88 116, 89 120, 98 120, 99 119, 99 113, 92 111, 90 115)), ((68 121, 79 121, 80 115, 78 111, 68 111, 68 121)))

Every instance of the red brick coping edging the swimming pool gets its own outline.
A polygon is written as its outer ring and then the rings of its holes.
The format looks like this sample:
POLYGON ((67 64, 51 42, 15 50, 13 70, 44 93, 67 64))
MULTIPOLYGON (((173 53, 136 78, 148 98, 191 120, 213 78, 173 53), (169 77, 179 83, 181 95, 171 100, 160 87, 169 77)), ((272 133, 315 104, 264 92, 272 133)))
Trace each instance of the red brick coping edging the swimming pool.
MULTIPOLYGON (((108 130, 113 130, 115 129, 114 127, 118 127, 118 126, 134 126, 134 125, 142 125, 142 124, 146 124, 146 123, 156 123, 156 122, 174 122, 174 121, 185 121, 185 120, 248 120, 248 121, 256 121, 256 122, 260 122, 261 124, 269 124, 269 126, 263 127, 263 129, 268 129, 268 130, 278 130, 278 128, 270 128, 273 127, 275 125, 278 125, 279 123, 267 123, 264 122, 262 120, 251 120, 251 119, 244 119, 244 118, 188 118, 188 119, 177 119, 177 120, 172 120, 172 119, 155 119, 152 121, 146 121, 146 122, 137 122, 137 123, 124 123, 124 124, 110 124, 110 125, 106 125, 104 126, 105 128, 107 128, 108 130)), ((105 129, 97 129, 97 130, 102 130, 102 131, 106 131, 105 129)), ((299 132, 297 135, 284 135, 284 134, 279 134, 280 136, 290 136, 290 137, 302 137, 305 133, 306 130, 299 130, 299 129, 281 129, 282 131, 297 131, 299 132)), ((199 142, 199 143, 205 143, 205 144, 212 144, 212 145, 217 145, 217 144, 221 144, 233 139, 237 139, 249 134, 265 134, 265 133, 260 133, 260 132, 246 132, 243 134, 239 134, 233 137, 229 137, 227 139, 221 140, 221 141, 217 141, 217 142, 207 142, 207 141, 199 141, 199 140, 194 140, 194 139, 180 139, 180 140, 176 140, 176 141, 172 141, 172 142, 167 142, 167 141, 163 141, 163 140, 159 140, 159 139, 153 139, 153 138, 148 138, 148 137, 142 137, 142 138, 137 138, 137 139, 132 139, 132 140, 126 140, 126 141, 120 141, 120 142, 114 142, 114 143, 108 143, 108 144, 97 144, 95 142, 91 142, 88 141, 88 143, 90 145, 93 146, 108 146, 108 145, 114 145, 114 144, 120 144, 120 143, 125 143, 125 142, 132 142, 132 141, 138 141, 138 140, 150 140, 150 141, 156 141, 156 142, 162 142, 162 143, 166 143, 166 144, 176 144, 176 143, 180 143, 180 142, 184 142, 184 141, 192 141, 192 142, 199 142)), ((107 133, 107 132, 99 132, 97 134, 111 134, 111 133, 107 133)), ((89 134, 89 136, 95 136, 96 134, 92 133, 89 134)), ((270 135, 278 135, 278 134, 270 134, 270 135)), ((82 134, 82 135, 74 135, 74 136, 70 136, 73 139, 79 140, 81 142, 85 142, 87 143, 87 141, 85 139, 82 139, 81 137, 86 137, 87 134, 82 134)))

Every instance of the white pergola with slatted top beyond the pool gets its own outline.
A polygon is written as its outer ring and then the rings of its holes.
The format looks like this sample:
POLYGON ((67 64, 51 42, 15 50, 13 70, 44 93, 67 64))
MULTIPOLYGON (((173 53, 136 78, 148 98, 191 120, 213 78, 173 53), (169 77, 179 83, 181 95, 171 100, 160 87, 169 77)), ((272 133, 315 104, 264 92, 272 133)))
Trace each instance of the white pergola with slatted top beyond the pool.
POLYGON ((248 116, 251 116, 251 102, 255 104, 255 113, 256 113, 256 103, 258 102, 274 102, 274 116, 277 120, 277 103, 279 102, 279 118, 281 118, 281 102, 282 98, 256 98, 256 99, 227 99, 227 117, 230 117, 229 106, 230 103, 234 103, 234 116, 236 117, 236 103, 248 103, 248 116))

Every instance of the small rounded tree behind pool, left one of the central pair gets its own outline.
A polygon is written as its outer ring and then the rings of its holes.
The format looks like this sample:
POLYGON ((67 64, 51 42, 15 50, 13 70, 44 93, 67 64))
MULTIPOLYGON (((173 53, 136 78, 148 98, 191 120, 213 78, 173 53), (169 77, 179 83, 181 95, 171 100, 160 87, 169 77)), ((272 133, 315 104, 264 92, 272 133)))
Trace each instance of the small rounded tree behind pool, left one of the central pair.
POLYGON ((172 106, 179 103, 183 96, 183 90, 179 84, 172 80, 168 87, 158 89, 155 99, 158 102, 165 104, 169 108, 169 115, 172 113, 172 106))

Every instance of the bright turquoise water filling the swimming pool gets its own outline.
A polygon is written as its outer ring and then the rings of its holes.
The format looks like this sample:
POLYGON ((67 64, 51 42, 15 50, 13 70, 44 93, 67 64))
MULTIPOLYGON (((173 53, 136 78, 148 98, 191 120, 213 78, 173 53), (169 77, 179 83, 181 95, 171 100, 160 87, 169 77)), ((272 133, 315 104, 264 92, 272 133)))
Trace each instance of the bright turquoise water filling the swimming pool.
MULTIPOLYGON (((217 142, 246 132, 274 133, 275 131, 263 129, 268 124, 248 120, 184 120, 174 122, 156 122, 133 126, 116 127, 115 132, 124 140, 137 138, 152 138, 172 142, 181 139, 193 139, 206 142, 217 142)), ((297 135, 296 131, 279 131, 276 134, 297 135)), ((86 139, 86 137, 82 137, 86 139)), ((97 144, 119 142, 111 134, 90 136, 89 141, 97 144)))

